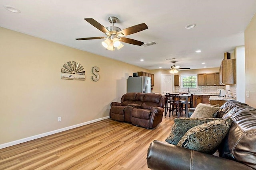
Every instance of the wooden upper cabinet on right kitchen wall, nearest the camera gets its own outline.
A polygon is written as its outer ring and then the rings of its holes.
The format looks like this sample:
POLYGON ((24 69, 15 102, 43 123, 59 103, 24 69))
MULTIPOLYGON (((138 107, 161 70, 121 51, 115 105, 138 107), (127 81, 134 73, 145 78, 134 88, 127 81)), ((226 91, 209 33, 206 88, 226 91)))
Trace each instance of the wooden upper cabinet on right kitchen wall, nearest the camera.
POLYGON ((236 59, 222 60, 220 64, 220 84, 236 84, 236 59))

